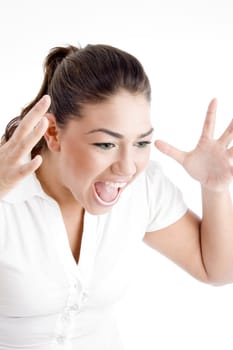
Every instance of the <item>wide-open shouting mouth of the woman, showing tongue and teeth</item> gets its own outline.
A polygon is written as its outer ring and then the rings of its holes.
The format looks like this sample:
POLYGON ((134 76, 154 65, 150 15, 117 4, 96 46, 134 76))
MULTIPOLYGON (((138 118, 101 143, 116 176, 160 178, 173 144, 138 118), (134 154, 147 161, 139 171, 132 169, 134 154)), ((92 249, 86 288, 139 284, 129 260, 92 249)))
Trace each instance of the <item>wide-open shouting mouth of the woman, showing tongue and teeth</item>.
POLYGON ((94 184, 94 193, 97 201, 104 206, 110 206, 117 202, 122 188, 126 182, 96 182, 94 184))

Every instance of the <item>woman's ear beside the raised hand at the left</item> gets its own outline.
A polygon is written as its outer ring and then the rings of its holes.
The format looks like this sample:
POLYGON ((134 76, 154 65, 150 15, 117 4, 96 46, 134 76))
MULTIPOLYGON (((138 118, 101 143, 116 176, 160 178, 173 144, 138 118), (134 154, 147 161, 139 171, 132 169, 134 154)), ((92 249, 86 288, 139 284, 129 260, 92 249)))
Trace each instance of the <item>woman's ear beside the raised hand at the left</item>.
POLYGON ((46 113, 46 118, 49 121, 49 126, 44 134, 48 149, 52 152, 60 151, 60 137, 59 128, 57 126, 56 118, 52 113, 46 113))

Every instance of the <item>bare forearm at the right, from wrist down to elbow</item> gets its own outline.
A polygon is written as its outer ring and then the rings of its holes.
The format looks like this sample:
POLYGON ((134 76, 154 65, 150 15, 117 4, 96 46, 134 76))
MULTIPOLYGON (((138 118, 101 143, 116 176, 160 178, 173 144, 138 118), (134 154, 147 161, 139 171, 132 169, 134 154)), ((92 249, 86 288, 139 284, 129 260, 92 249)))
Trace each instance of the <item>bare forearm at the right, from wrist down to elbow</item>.
POLYGON ((233 282, 233 206, 230 191, 202 189, 201 249, 210 283, 233 282))

